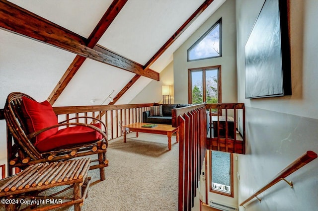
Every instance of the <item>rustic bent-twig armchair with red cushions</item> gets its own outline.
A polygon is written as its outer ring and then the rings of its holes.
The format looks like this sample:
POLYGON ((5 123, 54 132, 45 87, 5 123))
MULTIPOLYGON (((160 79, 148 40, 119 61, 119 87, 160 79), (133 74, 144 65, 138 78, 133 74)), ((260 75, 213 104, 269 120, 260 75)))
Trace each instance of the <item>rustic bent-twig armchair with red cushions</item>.
POLYGON ((37 102, 30 96, 12 92, 4 106, 7 125, 9 175, 13 167, 21 169, 30 164, 67 160, 74 157, 98 154, 98 162, 90 169, 99 168, 100 179, 105 179, 107 137, 105 125, 93 117, 75 117, 58 123, 48 101, 37 102), (97 124, 70 122, 80 118, 97 124), (103 128, 102 128, 103 127, 103 128))

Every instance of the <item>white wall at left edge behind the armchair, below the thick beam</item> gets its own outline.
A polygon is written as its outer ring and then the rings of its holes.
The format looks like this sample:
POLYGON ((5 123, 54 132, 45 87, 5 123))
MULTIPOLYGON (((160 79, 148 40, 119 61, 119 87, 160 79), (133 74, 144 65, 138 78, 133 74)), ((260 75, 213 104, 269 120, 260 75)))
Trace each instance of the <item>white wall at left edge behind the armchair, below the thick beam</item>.
MULTIPOLYGON (((46 100, 74 58, 70 52, 0 30, 0 108, 15 91, 46 100)), ((0 120, 1 164, 6 164, 4 120, 0 120)))

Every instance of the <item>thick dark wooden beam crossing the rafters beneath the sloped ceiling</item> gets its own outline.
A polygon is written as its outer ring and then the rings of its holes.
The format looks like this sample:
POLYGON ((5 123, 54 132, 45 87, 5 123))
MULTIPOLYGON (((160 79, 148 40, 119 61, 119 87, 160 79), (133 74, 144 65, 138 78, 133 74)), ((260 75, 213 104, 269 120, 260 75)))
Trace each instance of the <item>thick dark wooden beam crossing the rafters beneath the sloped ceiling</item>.
POLYGON ((137 63, 119 55, 116 55, 114 59, 114 53, 106 49, 88 48, 87 39, 6 0, 0 0, 0 28, 107 65, 117 67, 119 63, 122 63, 119 68, 123 70, 159 80, 158 72, 144 70, 141 65, 138 66, 137 63))

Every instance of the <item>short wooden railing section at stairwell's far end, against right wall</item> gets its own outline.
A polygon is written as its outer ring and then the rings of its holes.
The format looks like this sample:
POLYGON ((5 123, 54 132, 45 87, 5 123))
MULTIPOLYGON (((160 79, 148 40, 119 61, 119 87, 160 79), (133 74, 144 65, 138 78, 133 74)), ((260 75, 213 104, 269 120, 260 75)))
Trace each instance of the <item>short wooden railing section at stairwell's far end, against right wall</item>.
POLYGON ((211 150, 245 154, 244 103, 205 104, 210 123, 207 147, 211 150))

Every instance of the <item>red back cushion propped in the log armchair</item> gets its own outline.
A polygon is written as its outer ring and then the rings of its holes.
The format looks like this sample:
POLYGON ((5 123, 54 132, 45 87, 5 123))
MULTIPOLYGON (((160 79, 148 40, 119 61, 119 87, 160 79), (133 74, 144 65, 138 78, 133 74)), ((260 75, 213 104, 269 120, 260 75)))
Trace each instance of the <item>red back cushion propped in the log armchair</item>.
MULTIPOLYGON (((30 134, 58 124, 53 108, 47 100, 39 103, 27 97, 22 97, 21 109, 30 134)), ((58 130, 58 128, 53 128, 39 134, 36 136, 36 142, 56 134, 58 130)))

